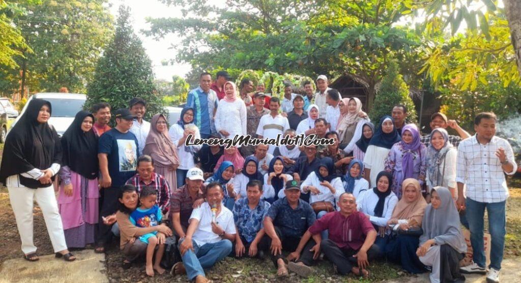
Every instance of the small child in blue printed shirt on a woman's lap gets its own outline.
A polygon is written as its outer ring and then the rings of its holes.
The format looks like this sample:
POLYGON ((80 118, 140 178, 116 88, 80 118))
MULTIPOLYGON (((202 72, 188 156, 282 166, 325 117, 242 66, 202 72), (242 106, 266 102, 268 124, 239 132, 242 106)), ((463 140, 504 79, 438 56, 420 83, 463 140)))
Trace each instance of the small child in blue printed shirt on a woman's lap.
MULTIPOLYGON (((137 227, 152 227, 159 225, 159 222, 163 218, 161 210, 156 204, 157 191, 153 188, 145 188, 141 191, 139 201, 141 206, 134 210, 130 214, 130 222, 137 227)), ((161 259, 163 258, 163 252, 165 250, 164 243, 158 245, 158 239, 156 237, 157 231, 139 236, 139 240, 146 243, 146 274, 148 276, 154 276, 154 269, 159 273, 163 274, 165 269, 159 266, 161 259), (154 250, 158 245, 156 251, 156 261, 152 265, 152 257, 154 250)))

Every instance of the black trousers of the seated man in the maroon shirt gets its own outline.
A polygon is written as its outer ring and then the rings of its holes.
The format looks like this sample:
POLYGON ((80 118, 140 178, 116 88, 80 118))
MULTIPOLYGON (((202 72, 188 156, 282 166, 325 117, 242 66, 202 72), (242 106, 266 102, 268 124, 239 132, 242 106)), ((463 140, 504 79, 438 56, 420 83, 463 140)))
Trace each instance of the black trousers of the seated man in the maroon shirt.
MULTIPOLYGON (((320 248, 324 255, 337 267, 337 272, 340 275, 346 275, 351 272, 353 266, 358 265, 356 258, 353 258, 359 250, 353 250, 349 247, 339 248, 337 243, 330 239, 322 240, 320 248)), ((367 251, 367 260, 374 260, 378 256, 378 247, 376 245, 371 246, 367 251)))

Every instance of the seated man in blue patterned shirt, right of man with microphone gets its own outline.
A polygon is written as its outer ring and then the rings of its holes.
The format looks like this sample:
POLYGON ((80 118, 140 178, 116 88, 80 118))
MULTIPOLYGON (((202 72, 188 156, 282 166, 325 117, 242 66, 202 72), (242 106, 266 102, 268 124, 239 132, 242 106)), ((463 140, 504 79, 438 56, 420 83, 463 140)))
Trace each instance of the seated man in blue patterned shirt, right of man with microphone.
POLYGON ((264 217, 270 204, 262 200, 263 184, 252 180, 246 185, 246 197, 235 201, 233 220, 237 227, 235 236, 235 256, 257 256, 268 250, 268 239, 264 237, 264 217))

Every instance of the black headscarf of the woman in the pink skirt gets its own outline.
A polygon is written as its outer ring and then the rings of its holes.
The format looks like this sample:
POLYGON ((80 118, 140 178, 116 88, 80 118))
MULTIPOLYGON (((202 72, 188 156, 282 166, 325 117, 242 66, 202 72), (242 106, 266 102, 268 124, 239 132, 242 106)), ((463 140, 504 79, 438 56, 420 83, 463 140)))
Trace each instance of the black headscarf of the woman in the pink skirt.
POLYGON ((94 116, 87 111, 76 113, 72 124, 61 137, 63 149, 62 166, 69 166, 70 170, 88 179, 95 179, 98 173, 97 137, 94 131, 83 132, 81 124, 86 117, 94 116))

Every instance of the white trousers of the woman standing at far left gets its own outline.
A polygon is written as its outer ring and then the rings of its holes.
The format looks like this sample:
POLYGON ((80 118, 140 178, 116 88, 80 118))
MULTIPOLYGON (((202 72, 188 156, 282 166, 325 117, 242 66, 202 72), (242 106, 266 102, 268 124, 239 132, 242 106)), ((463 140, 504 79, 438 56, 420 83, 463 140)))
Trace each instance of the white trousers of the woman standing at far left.
POLYGON ((22 242, 22 252, 28 254, 36 251, 33 242, 33 201, 36 200, 42 210, 45 225, 54 252, 67 249, 63 224, 58 211, 58 203, 54 195, 54 187, 31 189, 27 187, 7 187, 11 207, 15 213, 16 225, 22 242))

